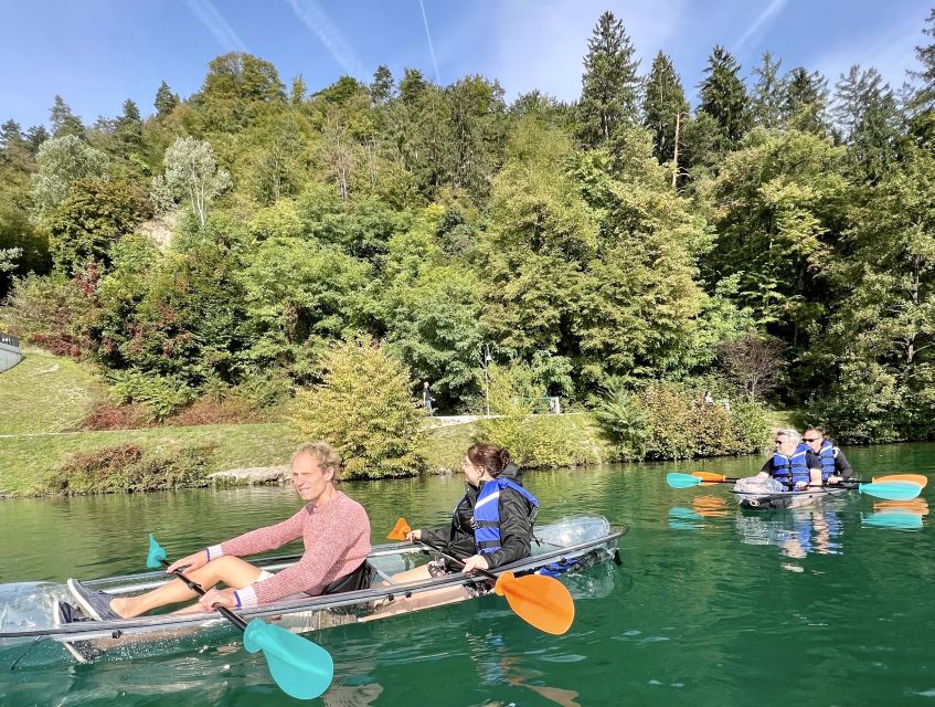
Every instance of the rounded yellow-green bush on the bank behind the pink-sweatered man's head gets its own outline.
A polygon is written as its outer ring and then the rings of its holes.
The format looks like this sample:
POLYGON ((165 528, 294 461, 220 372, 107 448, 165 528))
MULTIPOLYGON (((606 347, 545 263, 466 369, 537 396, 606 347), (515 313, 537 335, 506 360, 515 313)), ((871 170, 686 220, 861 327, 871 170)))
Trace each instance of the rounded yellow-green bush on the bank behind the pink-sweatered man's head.
POLYGON ((337 347, 323 366, 325 381, 296 395, 291 422, 300 435, 334 446, 350 478, 422 473, 423 415, 405 368, 364 341, 337 347))

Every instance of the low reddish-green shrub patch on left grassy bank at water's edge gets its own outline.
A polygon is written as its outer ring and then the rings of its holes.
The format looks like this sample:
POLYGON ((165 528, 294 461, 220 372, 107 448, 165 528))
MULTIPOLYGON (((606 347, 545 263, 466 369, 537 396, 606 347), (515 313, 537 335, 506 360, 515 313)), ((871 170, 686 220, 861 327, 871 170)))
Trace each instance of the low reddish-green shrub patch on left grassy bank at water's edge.
POLYGON ((208 486, 209 461, 216 445, 145 452, 135 445, 79 452, 49 481, 65 495, 113 494, 208 486))

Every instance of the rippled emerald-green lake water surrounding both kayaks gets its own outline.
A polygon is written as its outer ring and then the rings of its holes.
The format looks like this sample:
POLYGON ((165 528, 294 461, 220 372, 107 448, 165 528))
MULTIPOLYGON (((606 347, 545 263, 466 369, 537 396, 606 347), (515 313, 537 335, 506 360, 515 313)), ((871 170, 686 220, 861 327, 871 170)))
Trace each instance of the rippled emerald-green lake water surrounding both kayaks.
MULTIPOLYGON (((935 468, 935 444, 849 449, 863 477, 935 468)), ((334 682, 312 704, 932 705, 935 541, 927 502, 851 493, 811 508, 741 513, 727 485, 671 489, 670 471, 755 473, 762 458, 531 472, 541 523, 599 513, 630 531, 623 564, 566 580, 576 619, 536 632, 503 599, 314 634, 334 682)), ((935 482, 935 475, 931 475, 935 482)), ((401 515, 444 525, 460 476, 344 484, 373 541, 401 515)), ((932 487, 922 498, 932 498, 932 487)), ((289 488, 0 503, 0 601, 24 581, 142 571, 146 534, 179 557, 299 506, 289 488)), ((262 657, 230 644, 146 661, 75 665, 0 650, 0 706, 298 705, 262 657), (28 656, 29 658, 29 656, 28 656)), ((57 653, 61 652, 61 659, 57 653)), ((50 653, 46 651, 45 655, 50 653)))

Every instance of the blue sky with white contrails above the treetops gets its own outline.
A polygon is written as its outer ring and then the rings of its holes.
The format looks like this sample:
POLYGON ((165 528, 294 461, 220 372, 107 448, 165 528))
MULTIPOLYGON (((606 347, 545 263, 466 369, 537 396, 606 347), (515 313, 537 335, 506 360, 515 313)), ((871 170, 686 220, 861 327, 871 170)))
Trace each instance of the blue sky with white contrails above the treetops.
POLYGON ((162 80, 182 96, 230 51, 272 61, 284 83, 312 91, 342 74, 369 81, 385 63, 442 84, 499 78, 508 97, 581 92, 582 57, 598 15, 624 20, 646 72, 669 54, 690 96, 714 44, 744 74, 764 50, 818 70, 830 84, 854 63, 899 87, 935 0, 0 0, 0 120, 47 122, 61 94, 86 124, 126 98, 144 115, 162 80))

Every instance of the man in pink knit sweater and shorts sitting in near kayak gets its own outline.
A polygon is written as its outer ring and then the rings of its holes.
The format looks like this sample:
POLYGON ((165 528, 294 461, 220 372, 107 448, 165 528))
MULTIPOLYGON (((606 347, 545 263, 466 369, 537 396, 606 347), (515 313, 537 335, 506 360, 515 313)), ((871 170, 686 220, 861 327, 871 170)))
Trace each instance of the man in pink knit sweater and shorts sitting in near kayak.
MULTIPOLYGON (((182 569, 209 591, 181 612, 211 611, 217 605, 245 609, 294 594, 330 594, 370 585, 370 520, 366 511, 334 487, 341 460, 325 442, 302 444, 293 455, 293 484, 306 505, 283 523, 252 530, 177 560, 167 572, 182 569), (274 550, 301 538, 305 553, 295 564, 273 574, 241 557, 274 550), (219 583, 225 589, 216 589, 219 583), (211 589, 209 589, 211 588, 211 589)), ((176 579, 138 597, 115 598, 88 590, 70 579, 68 588, 92 619, 138 616, 167 604, 195 598, 176 579)))

